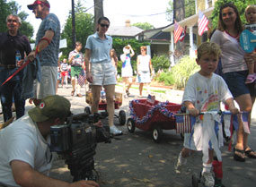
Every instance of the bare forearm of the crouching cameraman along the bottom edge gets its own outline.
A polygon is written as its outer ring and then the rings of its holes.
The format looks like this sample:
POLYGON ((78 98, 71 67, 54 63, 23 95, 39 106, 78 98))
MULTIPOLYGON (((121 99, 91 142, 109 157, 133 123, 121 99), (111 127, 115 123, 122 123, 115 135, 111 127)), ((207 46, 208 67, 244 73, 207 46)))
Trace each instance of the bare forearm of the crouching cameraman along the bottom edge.
POLYGON ((92 181, 79 181, 76 183, 66 183, 57 179, 52 179, 44 174, 35 171, 29 164, 20 160, 11 162, 13 178, 15 183, 22 187, 98 187, 99 185, 92 181))

